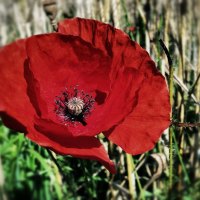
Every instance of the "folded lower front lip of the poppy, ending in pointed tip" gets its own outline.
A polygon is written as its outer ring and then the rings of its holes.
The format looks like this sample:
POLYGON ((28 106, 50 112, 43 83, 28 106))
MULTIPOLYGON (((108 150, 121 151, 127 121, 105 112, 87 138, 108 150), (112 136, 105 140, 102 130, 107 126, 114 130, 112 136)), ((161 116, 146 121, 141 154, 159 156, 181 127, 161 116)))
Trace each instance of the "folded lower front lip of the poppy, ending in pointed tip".
MULTIPOLYGON (((52 124, 47 121, 43 121, 42 123, 46 123, 46 125, 52 127, 52 124)), ((30 130, 26 135, 33 142, 61 155, 71 155, 78 158, 97 160, 111 173, 116 173, 114 163, 109 159, 103 145, 97 138, 68 137, 65 140, 60 140, 58 137, 49 137, 49 133, 46 133, 46 128, 41 125, 37 128, 40 129, 40 132, 37 130, 30 130)))

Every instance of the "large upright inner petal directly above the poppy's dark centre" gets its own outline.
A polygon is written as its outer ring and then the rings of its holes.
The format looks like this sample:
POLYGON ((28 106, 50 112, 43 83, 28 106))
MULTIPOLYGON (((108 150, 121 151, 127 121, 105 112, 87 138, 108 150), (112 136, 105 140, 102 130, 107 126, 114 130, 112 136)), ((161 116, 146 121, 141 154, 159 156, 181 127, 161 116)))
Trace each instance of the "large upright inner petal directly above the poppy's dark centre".
POLYGON ((33 36, 27 39, 27 54, 41 92, 48 91, 47 103, 65 87, 80 85, 90 92, 104 91, 109 85, 105 76, 109 74, 110 58, 80 38, 61 34, 33 36))

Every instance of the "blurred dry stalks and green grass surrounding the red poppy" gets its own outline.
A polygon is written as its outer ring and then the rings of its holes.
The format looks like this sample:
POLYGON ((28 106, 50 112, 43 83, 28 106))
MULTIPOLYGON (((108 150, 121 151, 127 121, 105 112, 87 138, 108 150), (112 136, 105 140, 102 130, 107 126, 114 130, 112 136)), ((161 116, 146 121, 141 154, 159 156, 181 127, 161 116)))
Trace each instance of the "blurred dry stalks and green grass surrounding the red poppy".
MULTIPOLYGON (((123 29, 168 80, 162 39, 173 60, 172 119, 200 121, 200 1, 59 0, 57 10, 58 20, 94 18, 123 29)), ((0 46, 51 31, 40 0, 0 0, 0 46)), ((172 126, 171 147, 166 130, 152 151, 134 157, 101 138, 118 166, 110 175, 97 162, 55 155, 1 123, 0 200, 200 199, 199 133, 198 127, 172 126)))

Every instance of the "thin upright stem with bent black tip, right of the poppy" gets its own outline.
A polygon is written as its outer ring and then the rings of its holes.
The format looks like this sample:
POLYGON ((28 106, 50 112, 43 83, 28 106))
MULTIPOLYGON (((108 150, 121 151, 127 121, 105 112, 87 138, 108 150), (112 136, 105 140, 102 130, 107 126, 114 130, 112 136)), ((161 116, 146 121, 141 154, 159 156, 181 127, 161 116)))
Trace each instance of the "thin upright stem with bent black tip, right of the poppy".
MULTIPOLYGON (((168 64, 169 64, 169 98, 171 108, 173 108, 173 94, 174 94, 174 68, 172 67, 172 59, 169 54, 167 47, 165 46, 164 42, 160 39, 159 40, 161 47, 163 48, 168 64)), ((170 118, 172 119, 172 111, 170 113, 170 118)), ((173 127, 169 127, 169 192, 172 189, 173 185, 173 127)))

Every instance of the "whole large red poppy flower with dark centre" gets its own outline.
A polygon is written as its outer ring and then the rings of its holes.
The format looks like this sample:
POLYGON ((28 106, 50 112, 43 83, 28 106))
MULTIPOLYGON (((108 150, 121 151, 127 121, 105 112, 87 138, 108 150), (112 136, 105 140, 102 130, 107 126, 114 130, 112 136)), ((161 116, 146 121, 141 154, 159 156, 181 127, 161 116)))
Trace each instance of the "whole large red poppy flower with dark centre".
POLYGON ((114 164, 100 132, 133 155, 153 148, 169 126, 164 77, 122 31, 70 19, 58 33, 0 49, 0 114, 8 127, 59 154, 114 164))

